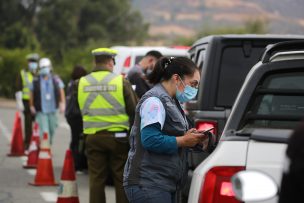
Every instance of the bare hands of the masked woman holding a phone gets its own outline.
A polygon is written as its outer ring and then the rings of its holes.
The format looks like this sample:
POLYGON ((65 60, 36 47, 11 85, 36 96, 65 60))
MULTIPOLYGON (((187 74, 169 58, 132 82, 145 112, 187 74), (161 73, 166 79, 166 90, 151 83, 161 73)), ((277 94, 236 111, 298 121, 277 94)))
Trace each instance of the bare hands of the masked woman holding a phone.
POLYGON ((198 132, 195 128, 188 130, 183 136, 176 137, 177 146, 179 147, 194 147, 206 139, 208 139, 208 136, 198 132))

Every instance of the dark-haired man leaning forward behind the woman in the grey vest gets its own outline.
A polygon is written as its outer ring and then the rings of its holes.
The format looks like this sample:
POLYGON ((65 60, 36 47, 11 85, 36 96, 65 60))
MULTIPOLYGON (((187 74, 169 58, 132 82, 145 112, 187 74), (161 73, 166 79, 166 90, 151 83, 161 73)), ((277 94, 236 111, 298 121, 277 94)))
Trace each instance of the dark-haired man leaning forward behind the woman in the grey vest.
POLYGON ((152 85, 148 82, 147 76, 161 57, 162 54, 159 51, 151 50, 129 71, 127 79, 134 86, 138 98, 151 89, 152 85))

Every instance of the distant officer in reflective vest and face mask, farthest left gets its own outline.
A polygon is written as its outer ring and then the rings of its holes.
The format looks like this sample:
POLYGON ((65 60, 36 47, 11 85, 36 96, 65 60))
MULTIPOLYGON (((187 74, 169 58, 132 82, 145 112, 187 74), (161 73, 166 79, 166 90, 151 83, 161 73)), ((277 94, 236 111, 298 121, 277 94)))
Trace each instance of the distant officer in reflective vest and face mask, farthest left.
POLYGON ((28 149, 32 136, 32 121, 34 120, 29 105, 30 86, 38 69, 39 55, 36 53, 29 54, 26 56, 26 59, 27 67, 23 68, 18 75, 15 96, 17 108, 19 111, 23 111, 24 114, 24 146, 25 149, 28 149))

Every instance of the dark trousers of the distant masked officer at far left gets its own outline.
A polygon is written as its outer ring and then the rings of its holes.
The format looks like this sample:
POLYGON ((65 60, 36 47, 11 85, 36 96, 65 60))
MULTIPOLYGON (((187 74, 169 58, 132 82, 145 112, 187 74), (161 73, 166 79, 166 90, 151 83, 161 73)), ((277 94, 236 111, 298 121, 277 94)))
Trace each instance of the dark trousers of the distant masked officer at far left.
POLYGON ((28 149, 32 137, 32 124, 34 121, 34 116, 31 114, 29 101, 24 99, 22 101, 24 106, 24 147, 25 149, 28 149))

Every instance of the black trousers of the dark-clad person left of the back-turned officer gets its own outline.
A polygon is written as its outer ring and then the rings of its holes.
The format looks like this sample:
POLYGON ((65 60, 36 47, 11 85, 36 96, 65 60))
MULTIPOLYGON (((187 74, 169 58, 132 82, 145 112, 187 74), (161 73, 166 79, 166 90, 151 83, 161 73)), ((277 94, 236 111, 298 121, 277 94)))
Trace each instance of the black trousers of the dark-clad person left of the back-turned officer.
POLYGON ((87 169, 87 158, 82 149, 79 149, 79 141, 82 139, 82 117, 67 118, 67 122, 71 128, 70 149, 73 154, 75 170, 81 171, 87 169))

